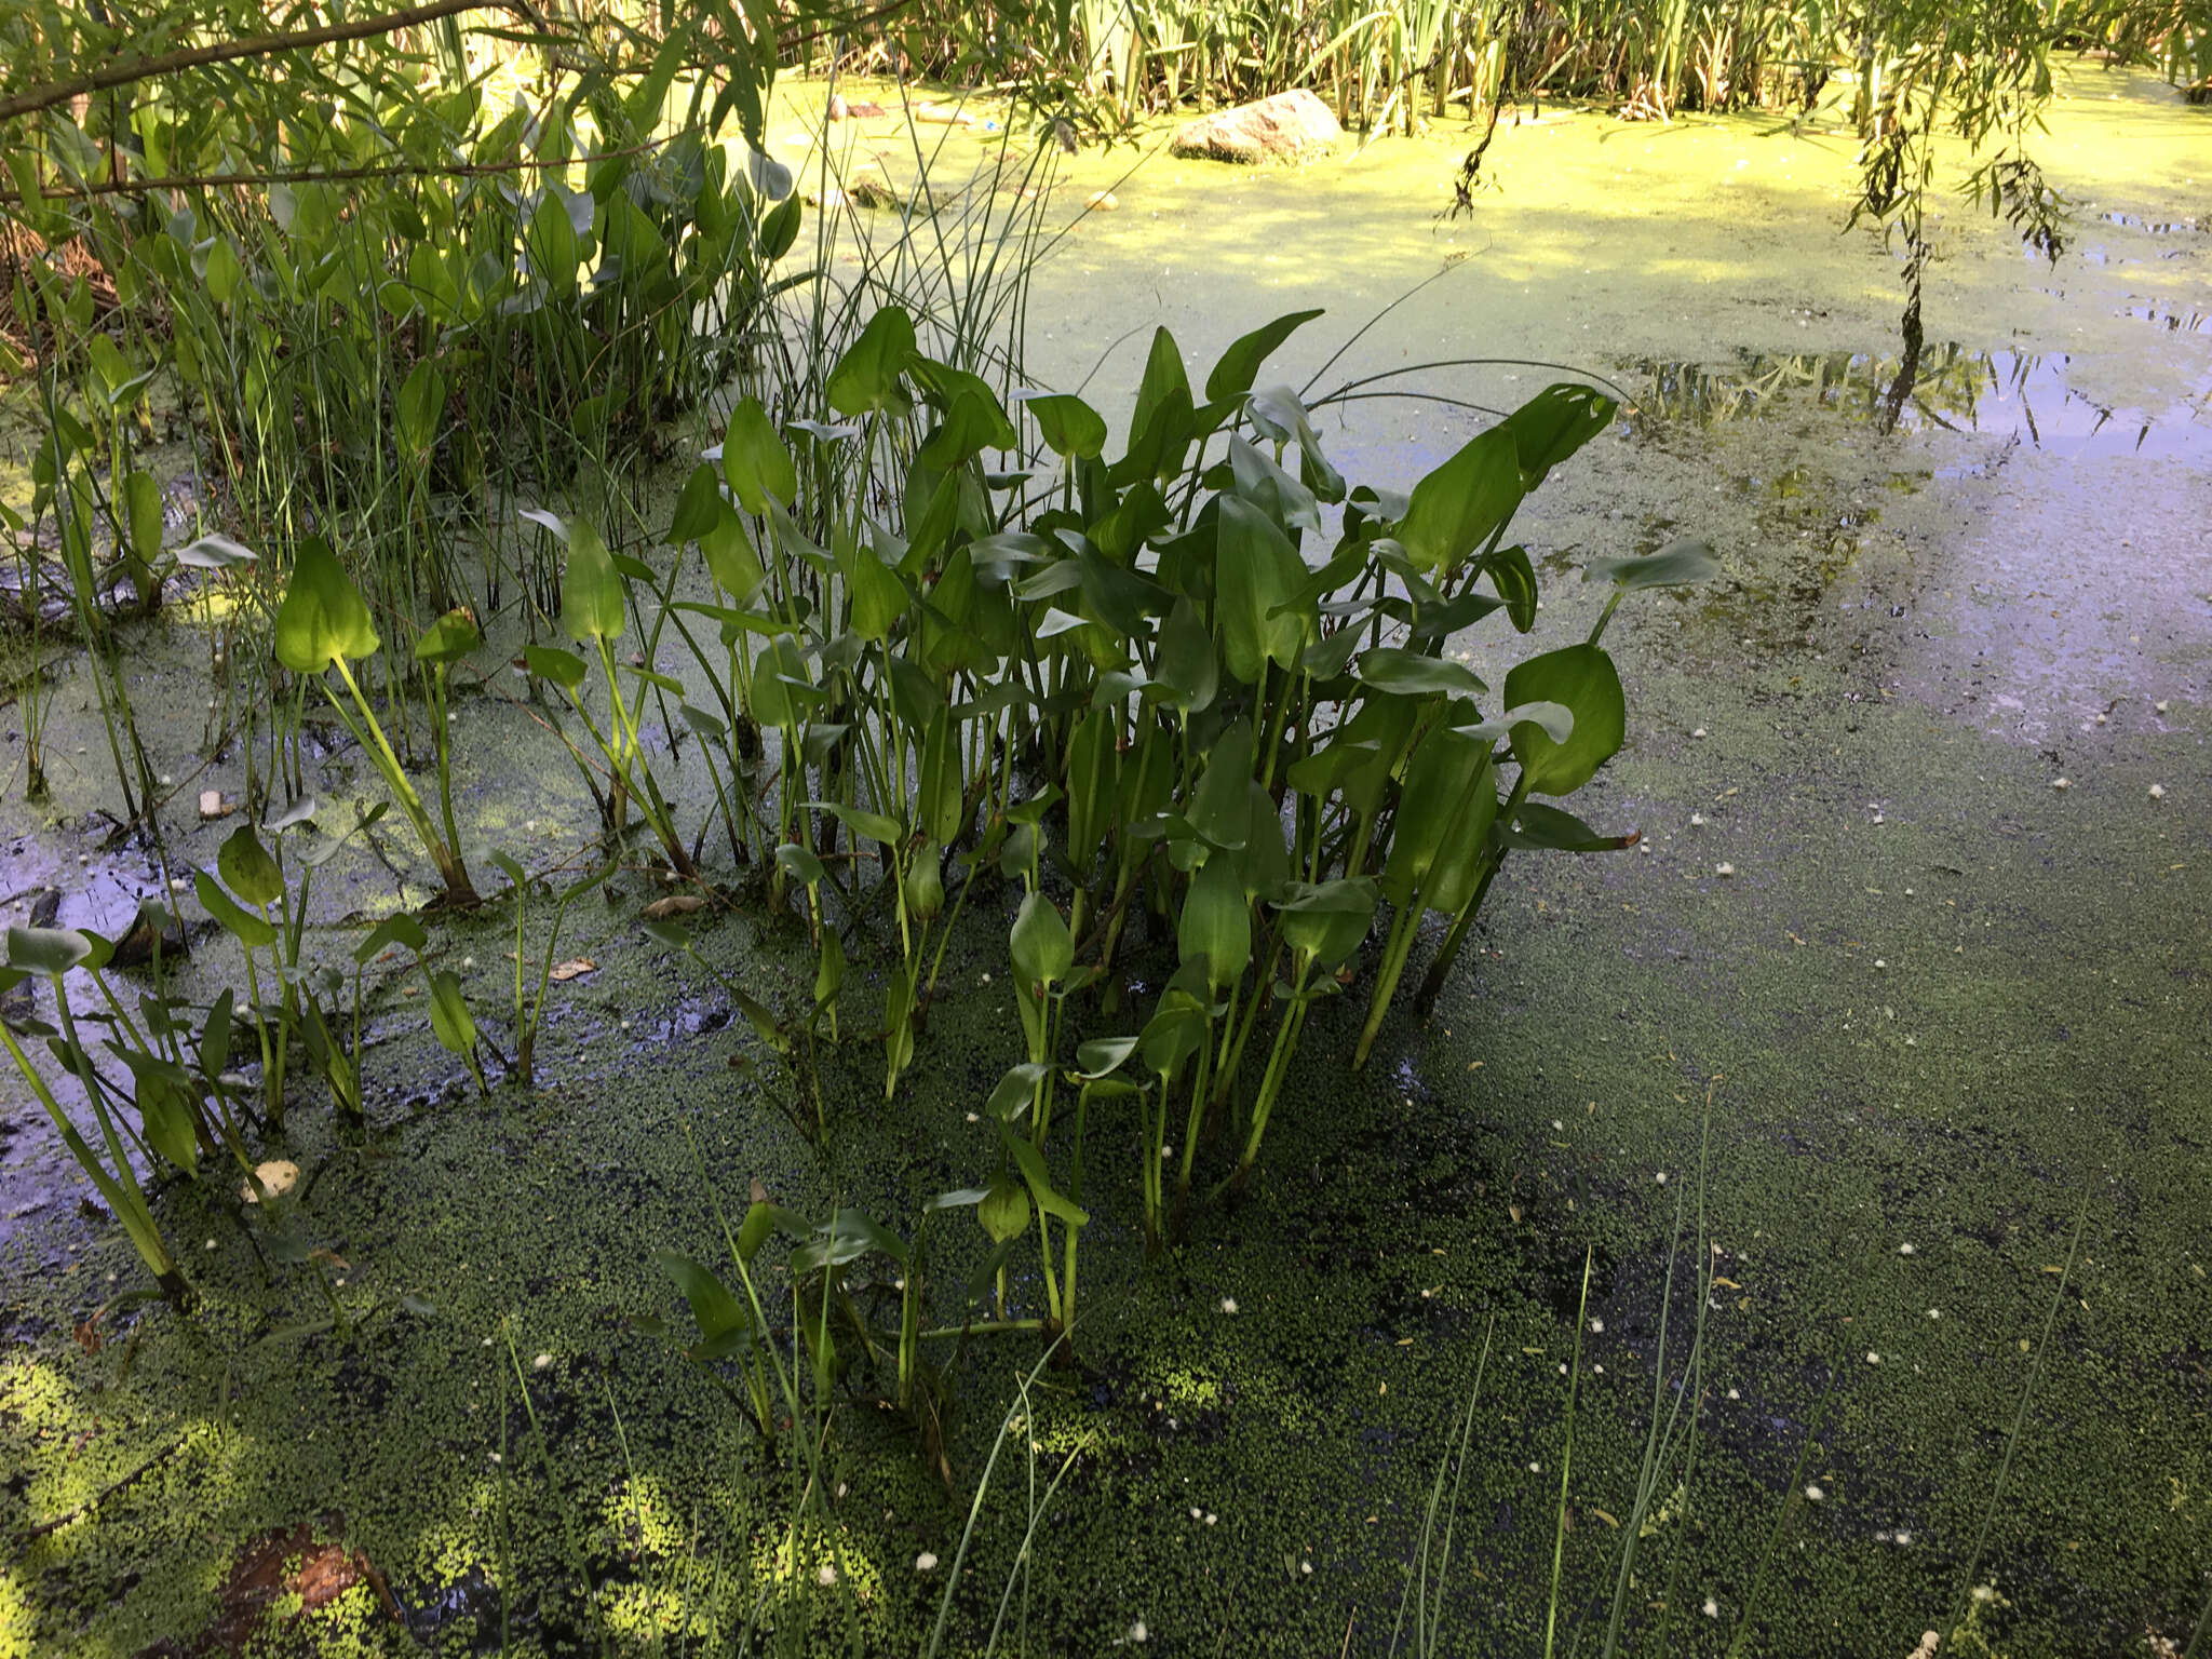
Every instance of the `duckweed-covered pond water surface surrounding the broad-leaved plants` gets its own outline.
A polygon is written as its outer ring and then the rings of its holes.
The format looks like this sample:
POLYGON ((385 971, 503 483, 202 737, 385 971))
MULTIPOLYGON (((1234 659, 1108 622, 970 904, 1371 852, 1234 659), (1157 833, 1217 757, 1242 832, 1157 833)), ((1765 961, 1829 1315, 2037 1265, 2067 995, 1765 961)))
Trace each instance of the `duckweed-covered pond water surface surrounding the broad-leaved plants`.
MULTIPOLYGON (((1528 644, 1588 628, 1597 557, 1694 533, 1725 580, 1608 635, 1630 734, 1582 810, 1639 827, 1637 852, 1511 860, 1436 1020, 1396 1018, 1365 1073, 1343 1068, 1354 1000, 1323 1006, 1254 1194, 1183 1250, 1146 1267, 1133 1208, 1097 1206, 1082 1365, 1042 1378, 1026 1429, 1044 1455, 1082 1449, 1037 1537, 1040 1650, 1104 1652, 1141 1624, 1170 1655, 1385 1652, 1484 1352, 1444 1646, 1542 1650, 1579 1356, 1564 1582, 1595 1650, 1655 1398, 1699 1318, 1701 1228, 1705 1444, 1692 1491, 1655 1502, 1646 1548, 1674 1553, 1630 1599, 1644 1650, 1666 1628, 1674 1652, 1723 1652, 1747 1619, 1745 1652, 1902 1657, 1971 1584, 1993 1588, 1991 1652, 2188 1641, 2212 1562, 2212 332, 2188 321, 2212 276, 2212 126, 2137 77, 2068 91, 2048 161, 2086 204, 2081 252, 2022 261, 1960 206, 1929 292, 1953 343, 1889 436, 1896 265, 1836 234, 1832 133, 1546 117, 1502 131, 1502 188, 1471 221, 1433 217, 1449 137, 1296 173, 1068 164, 1060 195, 1110 186, 1119 206, 1040 268, 1037 380, 1095 369, 1093 403, 1126 407, 1128 330, 1166 323, 1206 363, 1327 305, 1281 358, 1296 385, 1449 263, 1321 389, 1433 358, 1619 385, 1615 429, 1524 513, 1546 584, 1528 644)), ((774 137, 799 161, 790 119, 774 137)), ((1551 378, 1411 383, 1511 407, 1551 378)), ((1478 425, 1340 403, 1323 440, 1405 487, 1478 425)), ((175 779, 173 854, 197 863, 230 827, 197 821, 197 790, 237 787, 206 661, 190 626, 155 628, 133 681, 175 779)), ((1502 664, 1475 668, 1495 684, 1502 664)), ((15 920, 53 889, 64 925, 113 929, 155 878, 108 845, 80 681, 64 664, 55 801, 33 814, 11 781, 0 803, 0 898, 15 920)), ((493 675, 458 730, 469 838, 577 856, 591 807, 531 708, 493 675)), ((316 790, 374 799, 327 737, 316 790)), ((425 896, 385 836, 330 869, 334 940, 394 902, 387 860, 425 896)), ((562 956, 597 967, 555 987, 535 1097, 478 1104, 394 982, 369 1146, 299 1115, 288 1155, 352 1340, 221 1188, 164 1199, 206 1310, 88 1323, 135 1263, 0 1086, 0 1650, 190 1648, 270 1590, 272 1551, 303 1557, 279 1590, 323 1652, 586 1650, 586 1593, 626 1646, 692 1652, 779 1582, 790 1489, 730 1400, 630 1325, 675 1307, 650 1252, 714 1254, 710 1188, 902 1221, 962 1183, 973 1108, 1018 1057, 989 978, 1006 907, 978 900, 956 938, 960 991, 898 1102, 876 1099, 872 1044, 832 1064, 832 1113, 865 1133, 818 1161, 732 1073, 723 995, 639 936, 650 896, 617 878, 571 918, 562 956), (310 1593, 341 1579, 327 1606, 310 1593)), ((511 933, 451 922, 440 942, 493 1024, 511 933)), ((701 949, 739 975, 803 956, 734 918, 701 949)), ((1166 940, 1139 940, 1139 975, 1144 949, 1159 962, 1166 940)), ((1135 1157, 1115 1133, 1093 1159, 1135 1157)), ((947 1250, 969 1261, 962 1225, 947 1250)), ((841 1413, 867 1652, 920 1650, 940 1577, 916 1557, 953 1559, 1035 1358, 1018 1343, 967 1349, 958 1500, 891 1413, 841 1413)), ((958 1597, 975 1632, 1024 1478, 958 1597)))

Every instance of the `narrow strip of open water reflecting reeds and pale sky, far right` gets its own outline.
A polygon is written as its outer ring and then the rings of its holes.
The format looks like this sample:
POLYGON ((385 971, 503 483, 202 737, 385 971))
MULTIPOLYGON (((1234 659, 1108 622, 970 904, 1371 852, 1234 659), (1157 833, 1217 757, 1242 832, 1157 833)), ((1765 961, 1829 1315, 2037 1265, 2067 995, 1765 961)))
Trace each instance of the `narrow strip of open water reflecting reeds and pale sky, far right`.
MULTIPOLYGON (((2203 312, 2161 314, 2172 330, 2203 330, 2203 312), (2172 316, 2172 321, 2166 321, 2172 316)), ((1668 425, 1710 427, 1807 403, 1874 420, 1898 358, 1871 352, 1743 354, 1734 365, 1630 358, 1619 365, 1637 434, 1668 425)), ((1931 347, 1905 407, 1911 429, 1942 427, 2017 438, 2059 456, 2179 456, 2212 447, 2212 385, 2152 414, 2101 403, 2070 380, 2073 356, 1931 347)))

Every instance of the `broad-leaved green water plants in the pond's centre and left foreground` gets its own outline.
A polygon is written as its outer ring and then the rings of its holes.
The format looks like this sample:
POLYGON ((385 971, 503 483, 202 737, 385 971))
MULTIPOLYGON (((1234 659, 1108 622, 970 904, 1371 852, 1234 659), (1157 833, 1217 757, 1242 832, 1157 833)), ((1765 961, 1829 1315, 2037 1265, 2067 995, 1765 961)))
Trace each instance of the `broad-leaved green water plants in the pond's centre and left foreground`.
MULTIPOLYGON (((1506 540, 1513 513, 1606 427, 1613 403, 1557 385, 1411 493, 1354 487, 1296 394, 1254 389, 1265 356, 1310 316, 1237 341, 1201 392, 1161 332, 1113 460, 1106 420, 1082 398, 1018 400, 1040 434, 1040 465, 1009 473, 991 462, 1020 442, 1013 411, 980 376, 922 354, 911 319, 885 307, 827 374, 847 422, 787 434, 759 400, 739 400, 719 456, 692 471, 655 546, 617 553, 584 518, 524 509, 562 544, 557 624, 575 648, 526 646, 522 664, 568 706, 566 745, 599 801, 608 858, 644 849, 684 889, 659 907, 653 936, 703 960, 677 916, 712 902, 794 911, 812 938, 805 982, 728 984, 783 1057, 779 1086, 801 1128, 825 1128, 821 1042, 836 1037, 841 1011, 845 1033, 880 1035, 883 1097, 896 1110, 953 922, 978 883, 1018 896, 1006 960, 1020 1057, 984 1102, 1000 1157, 973 1190, 942 1201, 973 1206, 1000 1256, 1035 1221, 1042 1307, 1009 1318, 1000 1272, 993 1323, 1073 1323, 1093 1115, 1141 1126, 1126 1175, 1141 1188, 1148 1237, 1166 1241, 1197 1197, 1250 1179, 1318 1000, 1365 1000, 1360 1064, 1398 1000, 1422 916, 1447 929, 1416 998, 1425 1009, 1511 852, 1632 841, 1551 803, 1621 745, 1621 684, 1599 644, 1619 597, 1694 582, 1710 555, 1677 546, 1604 566, 1610 599, 1588 639, 1513 664, 1493 690, 1464 648, 1447 646, 1491 619, 1533 626, 1537 584, 1528 553, 1506 540), (880 487, 810 500, 787 436, 816 451, 810 476, 821 451, 852 451, 849 473, 880 487), (905 509, 902 531, 878 518, 891 504, 905 509), (1316 562, 1305 546, 1323 540, 1325 513, 1336 533, 1316 562), (706 588, 684 584, 692 557, 706 588), (650 650, 617 655, 628 639, 650 650), (644 666, 670 641, 690 657, 690 684, 644 666), (668 761, 639 741, 648 699, 670 730, 697 739, 712 781, 699 823, 679 823, 679 792, 659 776, 668 761), (719 869, 703 854, 710 843, 726 847, 719 869), (1115 982, 1137 911, 1150 911, 1177 958, 1144 1009, 1119 1006, 1115 982), (841 1009, 858 991, 847 991, 854 953, 880 964, 880 1011, 841 1009), (1365 975, 1363 956, 1374 958, 1365 975), (1199 1183, 1201 1148, 1223 1133, 1219 1168, 1199 1183)), ((363 692, 385 650, 369 606, 321 538, 294 551, 270 648, 296 695, 314 688, 349 726, 445 902, 478 905, 447 748, 436 750, 434 818, 363 692)), ((451 613, 411 657, 442 684, 478 648, 473 624, 451 613)), ((338 1113, 361 1117, 345 978, 301 960, 314 863, 301 854, 288 874, 283 849, 310 812, 274 818, 268 843, 239 830, 217 869, 192 876, 241 949, 243 1002, 208 1011, 197 1057, 159 998, 148 1006, 161 1009, 155 1024, 170 1042, 115 1046, 126 1064, 150 1055, 166 1066, 142 1117, 181 1110, 190 1124, 188 1137, 148 1135, 168 1164, 190 1168, 199 1148, 228 1148, 250 1168, 223 1086, 232 1022, 259 1053, 261 1126, 283 1126, 288 1057, 305 1057, 338 1113)), ((332 847, 319 843, 314 858, 332 847)), ((533 1000, 531 880, 500 863, 518 907, 513 1031, 526 1051, 553 945, 533 1000)), ((142 929, 159 940, 164 927, 150 907, 142 929)), ((11 967, 49 975, 51 962, 106 949, 80 936, 11 938, 22 947, 11 967)), ((420 922, 387 920, 356 962, 387 945, 420 953, 420 922)), ((458 978, 425 962, 425 980, 438 1040, 487 1086, 458 978)), ((124 1013, 113 995, 108 1004, 124 1013)), ((358 1024, 358 980, 352 1011, 358 1024)), ((115 1031, 135 1026, 124 1015, 115 1031)), ((69 1031, 55 1053, 95 1102, 131 1093, 69 1031)), ((18 1064, 35 1071, 22 1051, 18 1064)), ((526 1055, 509 1066, 524 1075, 526 1055)), ((115 1146, 104 1161, 73 1150, 102 1190, 128 1179, 115 1146)), ((768 1228, 821 1252, 823 1307, 858 1250, 900 1263, 911 1250, 874 1223, 841 1217, 818 1237, 772 1210, 741 1239, 757 1248, 768 1228)), ((170 1259, 148 1252, 148 1263, 164 1283, 175 1276, 170 1259)), ((900 1394, 911 1385, 918 1265, 907 1285, 900 1394)), ((810 1323, 823 1340, 825 1318, 810 1323)))

